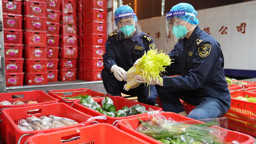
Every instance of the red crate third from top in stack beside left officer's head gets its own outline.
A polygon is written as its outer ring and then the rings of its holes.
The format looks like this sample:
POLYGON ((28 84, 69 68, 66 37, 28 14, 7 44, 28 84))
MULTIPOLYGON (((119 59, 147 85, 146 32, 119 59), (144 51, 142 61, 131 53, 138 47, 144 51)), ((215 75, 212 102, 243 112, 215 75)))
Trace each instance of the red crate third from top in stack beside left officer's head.
POLYGON ((84 23, 84 33, 102 33, 106 34, 107 24, 102 21, 91 21, 84 23))

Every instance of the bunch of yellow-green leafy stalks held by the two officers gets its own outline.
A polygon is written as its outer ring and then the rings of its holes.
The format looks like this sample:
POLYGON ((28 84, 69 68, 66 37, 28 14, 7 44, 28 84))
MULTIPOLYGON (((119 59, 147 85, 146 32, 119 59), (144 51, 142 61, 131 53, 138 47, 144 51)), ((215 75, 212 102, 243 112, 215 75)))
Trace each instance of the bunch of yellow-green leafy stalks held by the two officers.
POLYGON ((136 82, 137 78, 134 77, 136 75, 142 75, 143 80, 146 79, 146 83, 160 79, 159 73, 165 71, 163 66, 170 66, 171 63, 173 62, 171 62, 170 57, 162 53, 162 50, 157 52, 157 49, 150 49, 139 59, 136 66, 131 67, 124 74, 123 80, 127 82, 124 89, 128 91, 132 86, 140 84, 136 82))

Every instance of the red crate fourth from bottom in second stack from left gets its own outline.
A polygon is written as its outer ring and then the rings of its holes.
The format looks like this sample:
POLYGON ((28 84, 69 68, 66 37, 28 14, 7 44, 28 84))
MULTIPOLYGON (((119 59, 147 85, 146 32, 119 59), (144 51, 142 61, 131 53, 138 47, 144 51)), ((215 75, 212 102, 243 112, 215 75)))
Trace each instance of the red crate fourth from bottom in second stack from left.
POLYGON ((45 46, 46 31, 25 31, 25 44, 30 46, 45 46))

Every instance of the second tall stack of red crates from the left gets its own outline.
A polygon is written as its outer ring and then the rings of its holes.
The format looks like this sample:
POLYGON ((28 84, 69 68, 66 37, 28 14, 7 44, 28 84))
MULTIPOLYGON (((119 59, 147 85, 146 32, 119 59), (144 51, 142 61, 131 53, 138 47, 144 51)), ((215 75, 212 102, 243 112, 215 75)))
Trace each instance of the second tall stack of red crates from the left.
POLYGON ((25 84, 47 84, 46 1, 23 1, 25 84))

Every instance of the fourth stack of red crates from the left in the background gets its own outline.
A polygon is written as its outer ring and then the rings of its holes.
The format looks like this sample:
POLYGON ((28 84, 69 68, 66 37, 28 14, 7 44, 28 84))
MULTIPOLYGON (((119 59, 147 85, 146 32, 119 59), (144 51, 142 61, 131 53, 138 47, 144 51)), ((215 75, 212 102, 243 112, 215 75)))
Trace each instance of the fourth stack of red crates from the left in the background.
POLYGON ((61 0, 61 28, 59 42, 59 81, 76 80, 77 61, 77 24, 76 24, 76 1, 61 0))

